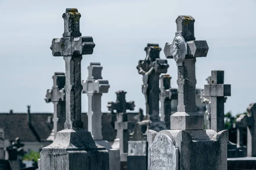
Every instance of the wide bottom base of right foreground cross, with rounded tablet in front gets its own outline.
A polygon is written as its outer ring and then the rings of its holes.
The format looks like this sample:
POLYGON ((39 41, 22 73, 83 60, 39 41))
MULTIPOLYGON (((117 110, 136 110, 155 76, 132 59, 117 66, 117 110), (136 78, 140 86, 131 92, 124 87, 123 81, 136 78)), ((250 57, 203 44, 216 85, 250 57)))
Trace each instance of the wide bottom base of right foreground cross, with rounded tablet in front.
POLYGON ((227 141, 228 130, 148 130, 148 170, 227 170, 227 141))

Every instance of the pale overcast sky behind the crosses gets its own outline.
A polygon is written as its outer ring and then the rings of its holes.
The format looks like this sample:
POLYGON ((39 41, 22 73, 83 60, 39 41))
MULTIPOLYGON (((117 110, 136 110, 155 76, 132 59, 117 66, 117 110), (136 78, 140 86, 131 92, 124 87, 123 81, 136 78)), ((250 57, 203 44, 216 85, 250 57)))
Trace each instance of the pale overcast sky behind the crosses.
MULTIPOLYGON (((246 111, 256 102, 256 1, 255 0, 0 0, 0 111, 53 112, 46 103, 52 75, 65 71, 63 57, 53 57, 52 38, 62 37, 66 8, 81 13, 80 32, 92 36, 92 55, 84 55, 82 79, 87 79, 90 62, 101 62, 102 77, 110 89, 102 96, 102 111, 115 101, 115 91, 127 91, 135 110, 145 108, 141 92, 142 76, 136 66, 145 59, 148 42, 164 48, 172 42, 178 15, 195 18, 196 40, 206 40, 207 57, 196 62, 197 88, 204 88, 211 70, 224 70, 231 95, 225 112, 246 111)), ((164 59, 163 50, 160 58, 164 59)), ((168 59, 172 87, 177 88, 177 66, 168 59)), ((87 95, 82 94, 82 111, 87 111, 87 95)), ((144 109, 145 111, 145 109, 144 109)))

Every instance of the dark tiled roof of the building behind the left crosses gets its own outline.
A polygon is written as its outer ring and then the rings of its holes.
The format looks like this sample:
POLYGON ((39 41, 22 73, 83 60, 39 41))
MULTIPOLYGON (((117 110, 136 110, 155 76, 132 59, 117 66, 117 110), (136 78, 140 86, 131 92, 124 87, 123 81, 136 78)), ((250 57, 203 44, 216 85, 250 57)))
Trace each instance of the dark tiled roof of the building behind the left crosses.
MULTIPOLYGON (((138 113, 128 113, 128 121, 133 125, 139 120, 138 113)), ((31 123, 41 141, 47 139, 52 131, 52 122, 47 123, 52 113, 31 113, 31 123)), ((84 129, 87 128, 87 115, 82 113, 84 129)), ((116 130, 111 122, 111 113, 102 115, 102 136, 104 140, 113 141, 116 138, 116 130)), ((4 136, 7 140, 15 140, 19 137, 21 142, 38 142, 35 132, 29 128, 27 113, 0 113, 0 128, 4 129, 4 136)))

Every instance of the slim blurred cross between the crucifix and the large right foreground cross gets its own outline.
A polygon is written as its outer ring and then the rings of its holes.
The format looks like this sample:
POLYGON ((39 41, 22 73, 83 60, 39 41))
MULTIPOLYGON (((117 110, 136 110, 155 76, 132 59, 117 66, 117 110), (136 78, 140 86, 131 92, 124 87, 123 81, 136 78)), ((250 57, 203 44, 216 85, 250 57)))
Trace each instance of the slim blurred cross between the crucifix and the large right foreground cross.
POLYGON ((172 113, 172 100, 177 99, 175 89, 171 88, 171 79, 169 75, 160 76, 160 102, 161 102, 161 121, 166 123, 167 129, 170 129, 170 116, 172 113), (172 95, 174 94, 174 95, 172 95))

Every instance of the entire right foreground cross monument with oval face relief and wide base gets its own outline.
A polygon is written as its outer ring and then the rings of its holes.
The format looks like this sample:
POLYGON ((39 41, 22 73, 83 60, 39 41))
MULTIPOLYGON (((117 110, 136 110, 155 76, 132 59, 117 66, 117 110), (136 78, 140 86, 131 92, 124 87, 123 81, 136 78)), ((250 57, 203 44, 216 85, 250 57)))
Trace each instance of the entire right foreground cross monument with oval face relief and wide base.
POLYGON ((204 130, 195 101, 196 57, 206 57, 206 41, 195 40, 195 19, 177 17, 177 32, 164 53, 177 64, 178 106, 171 130, 148 130, 148 170, 226 170, 228 131, 204 130))

